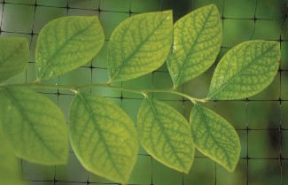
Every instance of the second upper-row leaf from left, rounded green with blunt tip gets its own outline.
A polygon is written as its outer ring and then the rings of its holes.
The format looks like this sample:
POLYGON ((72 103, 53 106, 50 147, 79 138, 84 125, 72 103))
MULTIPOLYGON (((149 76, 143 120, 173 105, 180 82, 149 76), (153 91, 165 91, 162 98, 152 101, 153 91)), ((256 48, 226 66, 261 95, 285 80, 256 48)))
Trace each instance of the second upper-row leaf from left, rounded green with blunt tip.
POLYGON ((35 50, 37 81, 89 62, 101 49, 104 33, 96 16, 54 19, 43 27, 35 50))

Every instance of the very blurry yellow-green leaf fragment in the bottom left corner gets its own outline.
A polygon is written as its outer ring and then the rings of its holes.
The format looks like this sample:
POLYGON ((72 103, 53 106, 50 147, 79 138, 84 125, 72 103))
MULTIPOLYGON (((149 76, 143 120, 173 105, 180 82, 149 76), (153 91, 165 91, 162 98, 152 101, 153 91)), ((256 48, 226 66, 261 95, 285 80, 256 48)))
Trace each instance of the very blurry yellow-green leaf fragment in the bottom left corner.
POLYGON ((13 153, 12 147, 0 130, 0 184, 27 185, 21 180, 20 161, 13 153))

